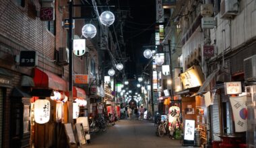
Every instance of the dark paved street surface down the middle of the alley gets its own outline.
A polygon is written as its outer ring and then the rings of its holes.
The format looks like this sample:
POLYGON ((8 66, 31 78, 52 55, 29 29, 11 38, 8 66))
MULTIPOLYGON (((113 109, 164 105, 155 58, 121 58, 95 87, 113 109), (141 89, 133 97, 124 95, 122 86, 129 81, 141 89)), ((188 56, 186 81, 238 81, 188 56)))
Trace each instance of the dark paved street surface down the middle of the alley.
POLYGON ((93 133, 88 148, 156 148, 182 147, 180 140, 157 137, 156 126, 147 120, 119 120, 105 133, 93 133))

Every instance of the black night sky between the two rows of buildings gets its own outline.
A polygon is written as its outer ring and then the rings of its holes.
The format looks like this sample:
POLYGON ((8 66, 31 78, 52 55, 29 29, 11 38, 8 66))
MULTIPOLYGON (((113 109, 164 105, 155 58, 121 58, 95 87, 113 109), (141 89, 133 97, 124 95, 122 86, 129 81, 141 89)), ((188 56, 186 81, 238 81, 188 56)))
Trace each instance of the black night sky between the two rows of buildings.
MULTIPOLYGON (((110 0, 110 2, 117 0, 110 0)), ((141 75, 141 71, 135 65, 141 63, 146 65, 148 59, 143 57, 143 45, 150 44, 150 38, 154 35, 156 22, 156 8, 153 0, 119 0, 121 10, 129 10, 130 13, 125 20, 123 38, 126 44, 126 53, 129 60, 125 63, 127 79, 134 78, 133 75, 141 75)))

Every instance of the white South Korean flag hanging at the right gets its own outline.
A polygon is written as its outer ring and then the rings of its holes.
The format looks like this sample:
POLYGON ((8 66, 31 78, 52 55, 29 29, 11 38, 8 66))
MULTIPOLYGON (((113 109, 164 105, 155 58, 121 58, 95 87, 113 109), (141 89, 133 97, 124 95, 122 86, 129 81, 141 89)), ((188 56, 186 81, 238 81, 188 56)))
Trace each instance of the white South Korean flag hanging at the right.
POLYGON ((234 116, 235 132, 245 132, 247 130, 247 109, 246 96, 230 97, 230 104, 234 116))

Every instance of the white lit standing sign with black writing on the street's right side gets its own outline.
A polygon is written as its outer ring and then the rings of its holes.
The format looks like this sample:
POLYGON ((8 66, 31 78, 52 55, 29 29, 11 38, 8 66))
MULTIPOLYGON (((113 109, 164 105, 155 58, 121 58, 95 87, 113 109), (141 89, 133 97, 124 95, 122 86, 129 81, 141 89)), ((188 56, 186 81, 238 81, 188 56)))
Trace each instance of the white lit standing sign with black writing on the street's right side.
POLYGON ((194 145, 195 120, 185 120, 183 145, 194 145))

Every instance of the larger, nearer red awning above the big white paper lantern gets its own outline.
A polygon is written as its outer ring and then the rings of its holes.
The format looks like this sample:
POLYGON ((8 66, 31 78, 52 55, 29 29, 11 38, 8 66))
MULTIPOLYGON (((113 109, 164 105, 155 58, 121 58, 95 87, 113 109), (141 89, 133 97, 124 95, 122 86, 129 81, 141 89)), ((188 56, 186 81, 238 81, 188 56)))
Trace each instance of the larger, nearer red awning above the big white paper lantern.
POLYGON ((34 68, 35 87, 67 91, 67 83, 61 77, 49 72, 34 68))

